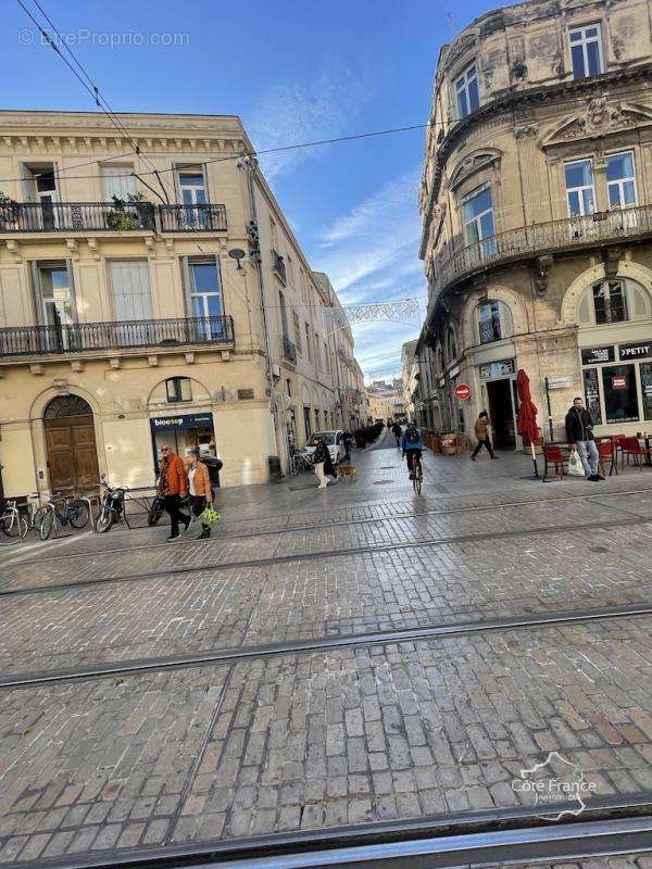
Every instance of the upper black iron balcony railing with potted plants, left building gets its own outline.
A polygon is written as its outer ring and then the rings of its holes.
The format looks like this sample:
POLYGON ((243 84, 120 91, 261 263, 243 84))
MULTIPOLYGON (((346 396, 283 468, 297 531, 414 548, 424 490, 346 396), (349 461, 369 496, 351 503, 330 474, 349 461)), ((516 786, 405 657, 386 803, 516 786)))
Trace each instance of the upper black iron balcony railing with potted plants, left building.
POLYGON ((153 205, 151 202, 8 202, 0 204, 0 232, 84 232, 147 229, 224 232, 224 205, 153 205))

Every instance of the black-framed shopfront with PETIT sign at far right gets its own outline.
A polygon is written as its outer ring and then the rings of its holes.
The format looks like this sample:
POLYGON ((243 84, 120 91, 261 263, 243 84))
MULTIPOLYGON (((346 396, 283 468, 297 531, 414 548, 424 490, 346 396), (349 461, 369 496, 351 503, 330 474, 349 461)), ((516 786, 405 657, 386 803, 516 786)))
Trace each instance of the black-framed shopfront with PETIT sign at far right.
POLYGON ((652 340, 585 348, 581 368, 587 407, 604 427, 599 433, 634 433, 652 423, 652 340))

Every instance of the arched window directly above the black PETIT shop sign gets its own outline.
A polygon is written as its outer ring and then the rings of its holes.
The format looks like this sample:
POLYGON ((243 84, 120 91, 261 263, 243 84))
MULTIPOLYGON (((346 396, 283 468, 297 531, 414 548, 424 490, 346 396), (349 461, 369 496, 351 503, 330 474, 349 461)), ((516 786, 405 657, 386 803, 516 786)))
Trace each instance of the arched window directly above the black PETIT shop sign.
POLYGON ((614 278, 588 287, 577 305, 580 326, 609 326, 652 317, 652 299, 632 280, 614 278))

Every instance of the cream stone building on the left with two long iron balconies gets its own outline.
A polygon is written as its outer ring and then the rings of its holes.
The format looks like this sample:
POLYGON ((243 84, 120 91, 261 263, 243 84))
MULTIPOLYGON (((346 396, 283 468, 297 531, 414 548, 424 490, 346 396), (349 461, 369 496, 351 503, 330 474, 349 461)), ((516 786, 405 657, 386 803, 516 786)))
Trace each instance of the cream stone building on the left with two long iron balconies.
POLYGON ((337 295, 239 118, 120 123, 0 113, 5 496, 150 487, 163 441, 263 482, 339 420, 337 295))

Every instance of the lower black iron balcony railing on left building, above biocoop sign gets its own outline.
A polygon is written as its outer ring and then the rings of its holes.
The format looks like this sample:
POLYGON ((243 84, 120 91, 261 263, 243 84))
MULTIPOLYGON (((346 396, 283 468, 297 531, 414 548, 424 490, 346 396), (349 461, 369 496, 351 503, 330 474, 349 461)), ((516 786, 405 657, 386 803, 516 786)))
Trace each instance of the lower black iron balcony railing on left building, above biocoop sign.
POLYGON ((234 322, 229 316, 10 326, 0 329, 0 356, 233 342, 234 322))

